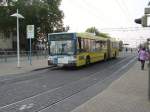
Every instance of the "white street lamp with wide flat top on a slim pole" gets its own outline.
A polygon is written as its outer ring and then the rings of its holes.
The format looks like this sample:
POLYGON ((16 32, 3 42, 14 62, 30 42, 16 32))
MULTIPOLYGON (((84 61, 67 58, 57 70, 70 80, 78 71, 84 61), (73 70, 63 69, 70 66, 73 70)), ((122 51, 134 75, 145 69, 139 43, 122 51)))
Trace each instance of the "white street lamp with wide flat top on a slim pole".
POLYGON ((17 67, 20 67, 20 47, 19 47, 19 19, 23 19, 24 17, 18 13, 18 9, 17 9, 17 13, 14 13, 11 15, 12 17, 17 17, 17 59, 18 59, 18 63, 17 63, 17 67))

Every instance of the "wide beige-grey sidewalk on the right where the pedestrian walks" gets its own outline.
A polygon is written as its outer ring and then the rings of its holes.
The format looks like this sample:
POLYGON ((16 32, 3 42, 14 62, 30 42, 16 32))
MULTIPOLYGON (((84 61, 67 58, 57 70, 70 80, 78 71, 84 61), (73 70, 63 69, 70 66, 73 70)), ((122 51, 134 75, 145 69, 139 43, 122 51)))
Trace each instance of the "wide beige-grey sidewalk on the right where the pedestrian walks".
POLYGON ((71 112, 150 112, 148 68, 137 62, 106 90, 71 112))

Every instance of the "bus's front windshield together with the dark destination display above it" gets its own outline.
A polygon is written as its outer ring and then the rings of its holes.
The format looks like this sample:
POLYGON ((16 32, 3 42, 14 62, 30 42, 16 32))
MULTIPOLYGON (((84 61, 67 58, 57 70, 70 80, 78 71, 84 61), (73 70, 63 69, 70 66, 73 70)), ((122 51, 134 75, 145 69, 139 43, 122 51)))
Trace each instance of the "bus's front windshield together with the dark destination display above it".
POLYGON ((73 33, 50 34, 50 55, 74 55, 75 39, 73 33))

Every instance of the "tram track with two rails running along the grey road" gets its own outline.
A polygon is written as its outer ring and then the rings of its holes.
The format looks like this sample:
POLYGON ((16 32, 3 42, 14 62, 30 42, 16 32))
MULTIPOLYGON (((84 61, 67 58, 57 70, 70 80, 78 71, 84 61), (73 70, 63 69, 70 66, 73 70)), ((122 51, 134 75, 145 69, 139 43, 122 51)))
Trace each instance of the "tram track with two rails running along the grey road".
POLYGON ((14 103, 11 103, 9 105, 5 105, 5 106, 2 106, 0 107, 0 110, 2 110, 2 112, 9 112, 9 110, 11 110, 10 112, 16 112, 16 109, 18 109, 17 111, 19 111, 19 109, 23 109, 23 105, 24 105, 24 110, 26 110, 27 112, 34 112, 34 111, 39 111, 41 110, 42 108, 46 108, 46 107, 49 107, 50 105, 54 105, 62 100, 64 100, 65 98, 68 98, 74 94, 77 94, 78 92, 90 87, 91 85, 95 84, 97 81, 100 81, 101 80, 104 80, 102 79, 101 77, 97 78, 97 76, 101 73, 101 74, 104 74, 107 72, 107 74, 109 74, 109 72, 114 68, 116 67, 115 65, 117 65, 117 67, 119 68, 122 63, 127 63, 130 59, 132 59, 133 57, 128 57, 128 58, 125 58, 117 63, 115 63, 114 65, 112 66, 109 66, 108 68, 104 69, 103 71, 99 71, 99 72, 93 72, 91 73, 89 76, 87 77, 83 77, 81 78, 80 80, 77 80, 77 81, 74 81, 74 82, 71 82, 69 84, 64 84, 64 85, 60 85, 58 88, 54 88, 54 89, 51 89, 51 90, 48 90, 48 91, 45 91, 45 92, 42 92, 40 94, 37 94, 37 95, 34 95, 32 97, 28 97, 28 98, 25 98, 23 100, 20 100, 20 101, 17 101, 17 102, 14 102, 14 103), (109 71, 110 70, 110 71, 109 71), (85 85, 86 84, 86 85, 85 85), (81 85, 84 85, 84 87, 80 88, 81 85), (74 88, 75 87, 75 88, 74 88), (79 89, 78 89, 79 88, 79 89), (65 94, 63 91, 68 91, 68 93, 71 91, 72 94, 65 94), (61 93, 61 94, 59 94, 61 93), (59 99, 59 97, 61 95, 64 95, 63 97, 61 97, 59 99), (54 97, 55 95, 55 97, 54 97), (51 96, 51 98, 49 98, 49 96, 51 96), (40 99, 43 98, 45 99, 43 102, 40 102, 40 104, 37 104, 37 105, 34 105, 35 102, 38 102, 40 101, 40 99), (46 100, 47 98, 49 98, 48 100, 46 100), (51 99, 54 99, 54 100, 51 100, 51 99), (36 100, 36 101, 34 101, 36 100), (51 100, 49 102, 49 100, 51 100), (49 102, 49 103, 46 103, 46 102, 49 102), (29 105, 30 104, 30 105, 29 105), (32 105, 31 105, 32 104, 32 105), (39 105, 44 105, 42 106, 42 108, 39 108, 39 105), (30 108, 29 108, 30 106, 30 108), (22 108, 21 108, 22 107, 22 108), (38 108, 38 110, 37 110, 38 108), (14 110, 12 110, 14 109, 14 110), (28 109, 30 111, 28 111, 28 109), (33 110, 32 110, 33 109, 33 110))

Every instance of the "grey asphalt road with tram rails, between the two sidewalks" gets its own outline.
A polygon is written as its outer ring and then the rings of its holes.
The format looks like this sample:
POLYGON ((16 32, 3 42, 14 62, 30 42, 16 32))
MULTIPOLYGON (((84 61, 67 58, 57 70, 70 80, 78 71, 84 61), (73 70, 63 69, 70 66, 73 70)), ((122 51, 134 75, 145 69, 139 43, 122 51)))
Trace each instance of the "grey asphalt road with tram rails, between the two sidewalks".
POLYGON ((0 79, 0 112, 69 112, 107 88, 134 55, 80 69, 48 68, 0 79))

